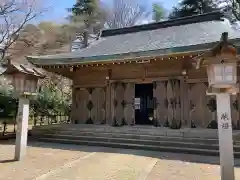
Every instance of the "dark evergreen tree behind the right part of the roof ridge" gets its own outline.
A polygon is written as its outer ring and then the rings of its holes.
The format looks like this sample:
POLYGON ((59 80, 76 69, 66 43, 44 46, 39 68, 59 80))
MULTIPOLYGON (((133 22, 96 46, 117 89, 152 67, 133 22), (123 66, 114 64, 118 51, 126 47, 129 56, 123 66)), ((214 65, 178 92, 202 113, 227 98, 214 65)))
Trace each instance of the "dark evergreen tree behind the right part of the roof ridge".
POLYGON ((182 0, 177 7, 174 7, 169 19, 199 15, 218 10, 214 0, 182 0))

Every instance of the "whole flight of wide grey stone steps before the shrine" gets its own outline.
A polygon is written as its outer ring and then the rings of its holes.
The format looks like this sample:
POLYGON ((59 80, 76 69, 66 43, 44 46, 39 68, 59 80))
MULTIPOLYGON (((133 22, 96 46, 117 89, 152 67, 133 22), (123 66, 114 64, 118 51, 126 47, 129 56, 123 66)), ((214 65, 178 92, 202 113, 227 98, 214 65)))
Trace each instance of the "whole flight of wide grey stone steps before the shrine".
MULTIPOLYGON (((217 130, 208 129, 51 125, 33 127, 32 138, 42 142, 219 155, 217 130)), ((234 155, 240 157, 240 143, 237 141, 234 141, 234 155)))

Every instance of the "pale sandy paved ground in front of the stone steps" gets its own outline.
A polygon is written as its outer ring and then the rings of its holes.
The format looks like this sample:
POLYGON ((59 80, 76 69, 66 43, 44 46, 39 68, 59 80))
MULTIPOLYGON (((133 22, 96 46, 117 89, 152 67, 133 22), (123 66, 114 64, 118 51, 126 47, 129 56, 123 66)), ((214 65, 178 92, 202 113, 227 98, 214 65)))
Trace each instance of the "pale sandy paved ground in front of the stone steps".
POLYGON ((220 180, 218 157, 39 142, 23 161, 13 155, 12 143, 0 142, 0 180, 220 180))

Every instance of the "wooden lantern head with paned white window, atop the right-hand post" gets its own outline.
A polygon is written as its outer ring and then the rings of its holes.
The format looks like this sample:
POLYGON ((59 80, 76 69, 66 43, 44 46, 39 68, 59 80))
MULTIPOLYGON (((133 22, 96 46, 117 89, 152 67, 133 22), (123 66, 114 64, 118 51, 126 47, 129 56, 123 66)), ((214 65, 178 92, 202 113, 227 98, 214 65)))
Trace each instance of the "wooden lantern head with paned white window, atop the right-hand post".
POLYGON ((196 69, 206 67, 209 88, 207 94, 238 93, 237 50, 228 41, 228 33, 222 33, 220 42, 211 50, 194 58, 196 69))

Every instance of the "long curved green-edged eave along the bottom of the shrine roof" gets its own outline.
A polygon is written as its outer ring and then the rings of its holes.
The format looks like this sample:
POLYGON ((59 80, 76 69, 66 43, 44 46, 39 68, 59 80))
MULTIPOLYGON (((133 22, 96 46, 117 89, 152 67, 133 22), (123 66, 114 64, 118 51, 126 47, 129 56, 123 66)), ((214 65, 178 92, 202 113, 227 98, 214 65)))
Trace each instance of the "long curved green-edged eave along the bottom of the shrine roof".
MULTIPOLYGON (((230 42, 234 43, 236 46, 240 46, 240 38, 230 39, 230 42)), ((89 56, 89 57, 81 57, 81 56, 65 56, 62 57, 61 54, 51 55, 51 56, 27 56, 28 61, 34 65, 38 66, 46 66, 46 65, 75 65, 75 64, 88 64, 88 63, 104 63, 104 62, 112 62, 119 61, 124 59, 136 59, 136 58, 144 58, 144 57, 159 57, 159 56, 167 56, 173 54, 186 54, 186 53, 197 53, 209 50, 217 42, 206 43, 206 44, 198 44, 191 46, 183 46, 183 47, 173 47, 167 49, 158 49, 158 50, 150 50, 150 51, 140 51, 140 52, 130 52, 124 54, 111 54, 111 55, 100 55, 100 56, 89 56)))

